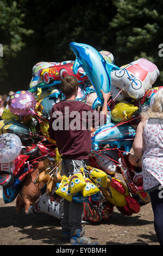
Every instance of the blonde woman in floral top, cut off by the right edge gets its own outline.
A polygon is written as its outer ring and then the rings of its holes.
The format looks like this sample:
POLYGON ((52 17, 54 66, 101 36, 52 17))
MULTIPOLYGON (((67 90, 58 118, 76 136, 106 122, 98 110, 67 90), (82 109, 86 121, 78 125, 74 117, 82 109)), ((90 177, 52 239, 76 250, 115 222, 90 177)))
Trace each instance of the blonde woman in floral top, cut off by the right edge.
POLYGON ((163 89, 154 95, 149 110, 141 116, 133 150, 142 161, 143 188, 150 195, 154 228, 160 245, 163 245, 163 89))

